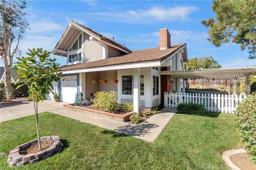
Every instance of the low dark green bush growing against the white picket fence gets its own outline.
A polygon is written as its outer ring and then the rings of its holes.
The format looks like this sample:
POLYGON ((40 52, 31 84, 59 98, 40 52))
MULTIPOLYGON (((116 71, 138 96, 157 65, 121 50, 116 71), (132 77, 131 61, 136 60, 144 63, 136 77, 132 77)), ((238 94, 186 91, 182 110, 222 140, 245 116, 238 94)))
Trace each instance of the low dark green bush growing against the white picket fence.
POLYGON ((196 115, 203 115, 209 113, 204 107, 204 105, 200 105, 197 103, 180 103, 176 107, 178 112, 181 113, 188 113, 188 114, 196 114, 196 115))

